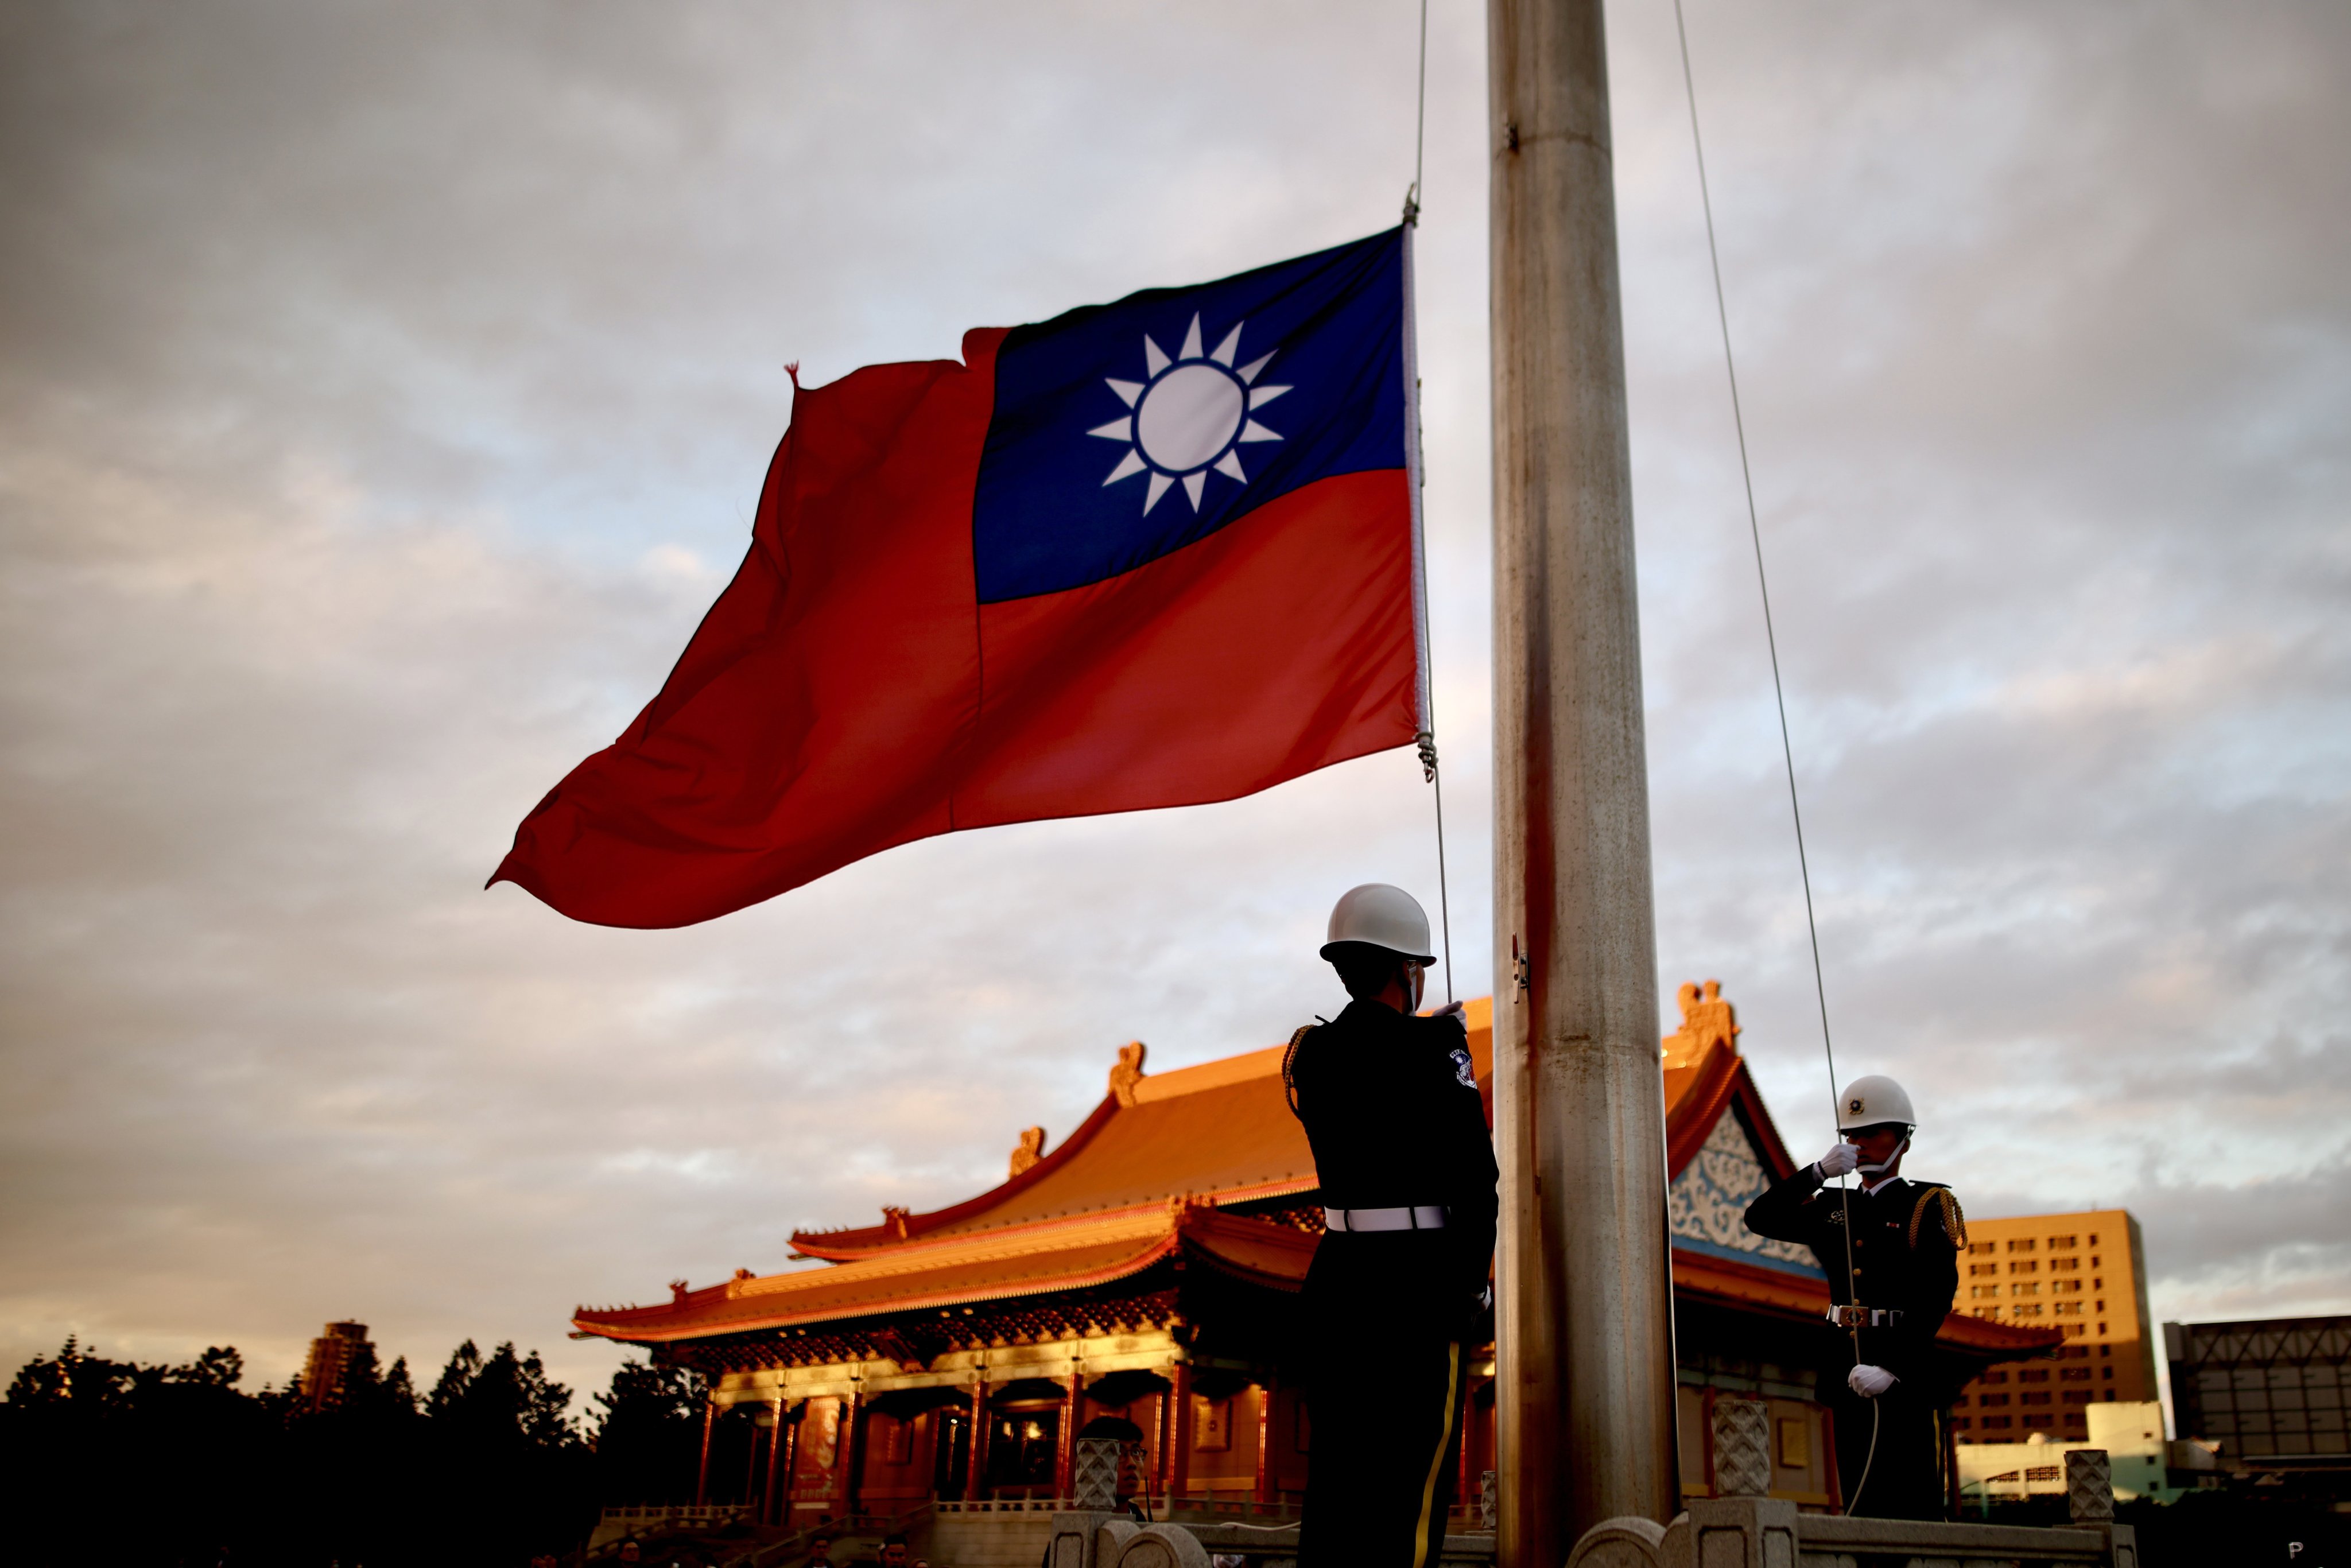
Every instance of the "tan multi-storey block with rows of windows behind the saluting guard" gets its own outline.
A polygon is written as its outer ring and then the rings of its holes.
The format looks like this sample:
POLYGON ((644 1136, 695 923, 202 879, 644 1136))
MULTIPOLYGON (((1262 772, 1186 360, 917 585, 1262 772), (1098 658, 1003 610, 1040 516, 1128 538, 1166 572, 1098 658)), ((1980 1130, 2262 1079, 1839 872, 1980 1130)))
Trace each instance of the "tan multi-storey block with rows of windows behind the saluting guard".
POLYGON ((1951 1436, 1961 1443, 2017 1443, 2036 1432, 2052 1443, 2085 1443, 2092 1403, 2156 1396, 2146 1248, 2125 1208, 1968 1215, 1954 1312, 2064 1331, 2055 1356, 1989 1366, 1961 1389, 1951 1403, 1951 1436))

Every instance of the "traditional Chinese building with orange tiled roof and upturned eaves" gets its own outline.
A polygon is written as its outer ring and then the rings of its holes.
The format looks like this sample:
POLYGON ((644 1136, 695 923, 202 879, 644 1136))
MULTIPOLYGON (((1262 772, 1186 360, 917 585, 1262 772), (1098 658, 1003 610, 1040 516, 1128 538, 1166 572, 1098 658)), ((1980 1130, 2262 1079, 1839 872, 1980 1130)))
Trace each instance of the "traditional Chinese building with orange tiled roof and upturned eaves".
MULTIPOLYGON (((1773 1408, 1775 1493, 1834 1507, 1838 1476, 1810 1366, 1827 1284, 1740 1215, 1796 1166, 1709 980, 1665 1039, 1681 1476, 1712 1479, 1716 1392, 1773 1408)), ((1493 1095, 1493 1009, 1469 1004, 1493 1095)), ((585 1335, 712 1378, 710 1500, 762 1519, 900 1514, 924 1500, 1065 1497, 1072 1439, 1114 1413, 1145 1434, 1154 1497, 1295 1502, 1312 1425, 1284 1378, 1291 1309, 1321 1232, 1314 1159, 1281 1091, 1281 1048, 1145 1074, 1140 1044, 1058 1147, 1027 1128, 1009 1178, 931 1213, 797 1232, 828 1267, 583 1307, 585 1335)), ((2057 1333, 1954 1314, 1954 1382, 2057 1333)), ((1378 1366, 1364 1368, 1378 1378, 1378 1366)), ((1476 1361, 1460 1497, 1493 1467, 1493 1347, 1476 1361)))

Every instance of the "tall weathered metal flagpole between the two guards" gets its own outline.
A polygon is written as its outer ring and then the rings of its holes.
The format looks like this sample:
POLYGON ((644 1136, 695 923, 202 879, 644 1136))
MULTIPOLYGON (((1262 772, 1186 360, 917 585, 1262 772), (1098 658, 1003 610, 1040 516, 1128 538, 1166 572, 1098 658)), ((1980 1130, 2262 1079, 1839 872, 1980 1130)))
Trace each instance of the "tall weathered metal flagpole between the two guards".
POLYGON ((1488 0, 1502 1568, 1665 1521, 1674 1307, 1599 0, 1488 0))

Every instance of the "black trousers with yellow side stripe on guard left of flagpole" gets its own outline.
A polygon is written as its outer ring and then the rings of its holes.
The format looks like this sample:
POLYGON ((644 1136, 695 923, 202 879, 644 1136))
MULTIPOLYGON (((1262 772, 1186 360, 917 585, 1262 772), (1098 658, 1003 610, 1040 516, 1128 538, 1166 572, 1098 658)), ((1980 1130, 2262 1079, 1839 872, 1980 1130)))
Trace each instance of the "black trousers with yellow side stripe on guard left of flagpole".
POLYGON ((1441 1331, 1328 1326, 1307 1349, 1298 1568, 1434 1568, 1460 1467, 1469 1356, 1441 1331))

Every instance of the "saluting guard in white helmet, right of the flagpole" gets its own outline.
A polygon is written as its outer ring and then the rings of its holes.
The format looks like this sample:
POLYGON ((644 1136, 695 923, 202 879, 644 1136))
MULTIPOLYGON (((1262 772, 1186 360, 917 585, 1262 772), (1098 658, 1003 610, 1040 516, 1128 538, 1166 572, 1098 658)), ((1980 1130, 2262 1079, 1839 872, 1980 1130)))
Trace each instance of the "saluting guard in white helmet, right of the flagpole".
POLYGON ((1935 1333, 1958 1295, 1968 1220, 1949 1187, 1902 1178, 1916 1126, 1900 1084, 1855 1079, 1836 1103, 1836 1147, 1747 1206, 1747 1229, 1801 1241, 1829 1276, 1820 1401, 1836 1418, 1846 1512, 1874 1519, 1942 1519, 1947 1497, 1954 1389, 1935 1333), (1850 1171, 1857 1190, 1827 1187, 1850 1171))

